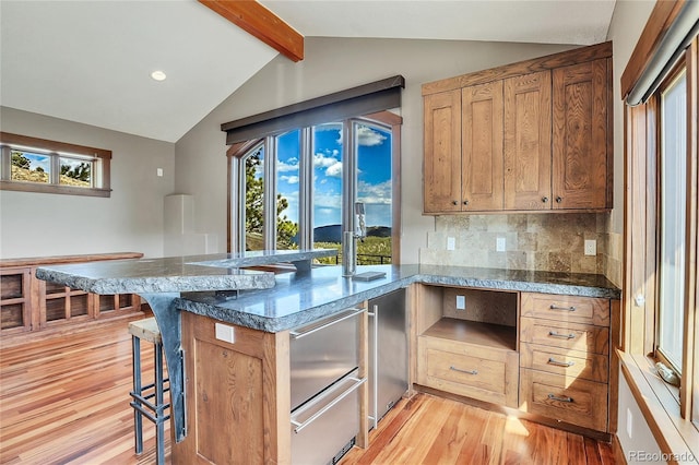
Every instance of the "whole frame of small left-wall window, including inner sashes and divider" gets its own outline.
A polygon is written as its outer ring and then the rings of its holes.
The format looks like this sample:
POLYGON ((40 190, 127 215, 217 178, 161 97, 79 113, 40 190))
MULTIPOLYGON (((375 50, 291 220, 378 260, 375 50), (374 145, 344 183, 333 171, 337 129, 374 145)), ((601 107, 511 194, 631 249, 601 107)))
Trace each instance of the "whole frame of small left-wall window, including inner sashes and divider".
MULTIPOLYGON (((2 164, 0 190, 108 198, 111 195, 110 162, 111 151, 105 148, 0 132, 0 163, 2 164), (60 169, 60 158, 70 157, 70 155, 94 158, 95 163, 93 164, 94 170, 92 176, 98 180, 99 187, 81 188, 60 184, 55 181, 39 183, 12 180, 11 152, 13 147, 19 150, 27 150, 31 147, 42 151, 51 158, 51 165, 59 167, 58 169, 60 169)), ((59 179, 59 177, 56 177, 56 179, 59 179)))

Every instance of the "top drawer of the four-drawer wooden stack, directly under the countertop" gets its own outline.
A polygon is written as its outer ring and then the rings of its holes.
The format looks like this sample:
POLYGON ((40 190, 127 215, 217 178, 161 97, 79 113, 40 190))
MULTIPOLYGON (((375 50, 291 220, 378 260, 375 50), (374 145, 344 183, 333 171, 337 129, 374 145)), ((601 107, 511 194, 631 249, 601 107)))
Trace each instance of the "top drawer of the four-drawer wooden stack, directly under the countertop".
POLYGON ((609 299, 522 293, 521 315, 609 325, 609 299))

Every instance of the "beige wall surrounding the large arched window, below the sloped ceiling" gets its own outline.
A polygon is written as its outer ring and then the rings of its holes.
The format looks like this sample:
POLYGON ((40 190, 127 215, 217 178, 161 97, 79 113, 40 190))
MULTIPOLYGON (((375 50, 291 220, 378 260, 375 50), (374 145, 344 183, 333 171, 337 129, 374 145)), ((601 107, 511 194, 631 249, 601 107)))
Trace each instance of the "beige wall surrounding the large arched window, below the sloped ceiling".
POLYGON ((402 74, 401 260, 416 263, 435 219, 423 216, 423 98, 420 84, 529 58, 570 46, 448 40, 306 38, 306 58, 272 60, 176 144, 176 189, 193 194, 199 233, 226 237, 226 145, 221 124, 402 74))

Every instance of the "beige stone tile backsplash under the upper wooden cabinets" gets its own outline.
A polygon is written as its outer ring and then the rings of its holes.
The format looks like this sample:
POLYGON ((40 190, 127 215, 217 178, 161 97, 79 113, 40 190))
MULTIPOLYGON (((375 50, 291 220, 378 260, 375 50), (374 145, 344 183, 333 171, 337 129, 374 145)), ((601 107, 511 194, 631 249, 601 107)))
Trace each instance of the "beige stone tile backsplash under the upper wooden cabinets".
POLYGON ((419 262, 597 273, 618 286, 621 235, 607 233, 608 217, 605 213, 437 216, 427 248, 420 249, 419 262), (498 239, 500 243, 505 239, 503 251, 497 250, 498 239), (595 255, 584 254, 585 240, 596 241, 595 255))

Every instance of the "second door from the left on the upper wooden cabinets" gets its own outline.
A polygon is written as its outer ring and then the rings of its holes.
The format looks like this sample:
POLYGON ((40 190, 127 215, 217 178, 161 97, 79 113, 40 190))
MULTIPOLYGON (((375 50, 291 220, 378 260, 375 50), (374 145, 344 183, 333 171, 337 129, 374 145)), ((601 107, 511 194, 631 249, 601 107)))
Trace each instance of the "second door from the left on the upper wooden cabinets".
POLYGON ((464 87, 461 103, 462 210, 502 210, 502 81, 464 87))

